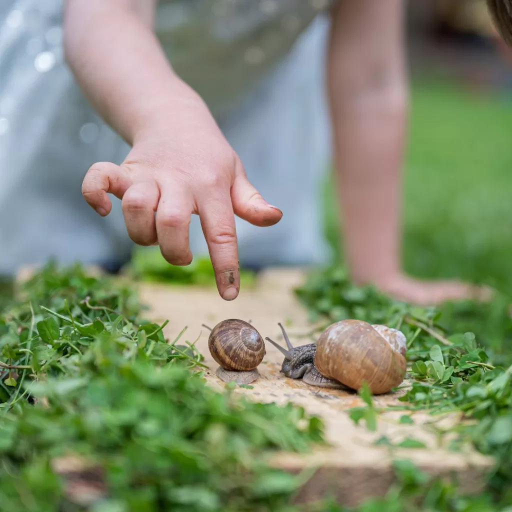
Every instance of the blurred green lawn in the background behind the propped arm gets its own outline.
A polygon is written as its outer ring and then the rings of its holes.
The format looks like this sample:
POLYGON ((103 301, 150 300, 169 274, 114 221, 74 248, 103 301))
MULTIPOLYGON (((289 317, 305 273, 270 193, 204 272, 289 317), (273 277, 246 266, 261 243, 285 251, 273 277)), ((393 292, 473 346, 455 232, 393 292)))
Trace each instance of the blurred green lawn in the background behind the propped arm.
MULTIPOLYGON (((405 269, 512 296, 512 97, 421 80, 409 128, 405 269)), ((327 236, 336 245, 334 204, 328 197, 327 236)))

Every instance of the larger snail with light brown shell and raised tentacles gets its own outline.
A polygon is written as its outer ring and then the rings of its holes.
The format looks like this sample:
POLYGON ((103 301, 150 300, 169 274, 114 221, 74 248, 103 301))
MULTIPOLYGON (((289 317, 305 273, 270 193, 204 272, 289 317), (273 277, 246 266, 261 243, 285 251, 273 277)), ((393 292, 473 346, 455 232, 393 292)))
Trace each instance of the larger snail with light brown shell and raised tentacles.
POLYGON ((407 342, 396 329, 343 320, 325 329, 317 344, 293 348, 279 326, 289 350, 265 339, 285 355, 281 371, 287 377, 331 389, 359 390, 366 381, 375 395, 388 393, 403 381, 407 342))

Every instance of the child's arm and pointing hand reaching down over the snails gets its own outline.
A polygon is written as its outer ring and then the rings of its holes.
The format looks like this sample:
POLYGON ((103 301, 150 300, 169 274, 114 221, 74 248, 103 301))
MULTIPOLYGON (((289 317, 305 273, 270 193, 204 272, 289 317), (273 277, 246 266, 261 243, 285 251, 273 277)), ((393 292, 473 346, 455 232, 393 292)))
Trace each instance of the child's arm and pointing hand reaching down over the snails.
POLYGON ((271 226, 282 212, 247 181, 205 103, 169 65, 153 32, 156 4, 66 2, 66 60, 98 113, 132 146, 120 166, 94 164, 82 193, 100 215, 111 210, 108 193, 122 199, 132 240, 158 244, 175 265, 192 261, 188 227, 198 214, 219 293, 232 300, 240 288, 234 214, 271 226))

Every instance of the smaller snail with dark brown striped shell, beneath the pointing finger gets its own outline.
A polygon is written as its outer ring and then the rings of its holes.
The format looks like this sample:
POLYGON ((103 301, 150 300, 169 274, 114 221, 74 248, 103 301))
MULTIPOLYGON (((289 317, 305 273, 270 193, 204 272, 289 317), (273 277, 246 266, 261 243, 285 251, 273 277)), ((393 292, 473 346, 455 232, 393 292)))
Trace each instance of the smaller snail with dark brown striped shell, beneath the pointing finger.
POLYGON ((236 318, 219 322, 210 329, 208 349, 219 364, 216 375, 221 380, 249 384, 260 376, 257 367, 265 356, 265 343, 250 323, 236 318))

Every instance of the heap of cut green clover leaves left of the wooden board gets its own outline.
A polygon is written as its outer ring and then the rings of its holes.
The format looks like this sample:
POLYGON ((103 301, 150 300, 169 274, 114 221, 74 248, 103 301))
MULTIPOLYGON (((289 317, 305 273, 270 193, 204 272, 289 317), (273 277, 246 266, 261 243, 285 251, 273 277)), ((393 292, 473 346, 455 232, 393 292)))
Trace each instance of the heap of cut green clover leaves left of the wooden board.
POLYGON ((0 510, 286 509, 301 476, 268 456, 322 442, 319 419, 213 391, 193 343, 79 266, 23 296, 0 317, 0 510))

